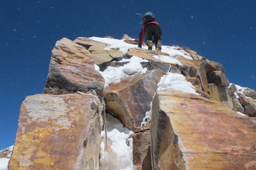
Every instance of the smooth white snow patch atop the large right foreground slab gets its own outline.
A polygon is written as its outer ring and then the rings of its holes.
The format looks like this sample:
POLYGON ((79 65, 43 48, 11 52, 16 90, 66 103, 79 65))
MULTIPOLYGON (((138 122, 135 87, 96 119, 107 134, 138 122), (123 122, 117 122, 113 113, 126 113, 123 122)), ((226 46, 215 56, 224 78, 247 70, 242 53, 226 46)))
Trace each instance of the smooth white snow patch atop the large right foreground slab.
POLYGON ((199 95, 198 93, 196 93, 196 90, 193 87, 192 83, 187 82, 186 77, 184 77, 183 74, 167 73, 166 76, 161 77, 161 80, 158 83, 157 90, 164 90, 166 88, 172 88, 176 90, 181 90, 185 93, 199 95))

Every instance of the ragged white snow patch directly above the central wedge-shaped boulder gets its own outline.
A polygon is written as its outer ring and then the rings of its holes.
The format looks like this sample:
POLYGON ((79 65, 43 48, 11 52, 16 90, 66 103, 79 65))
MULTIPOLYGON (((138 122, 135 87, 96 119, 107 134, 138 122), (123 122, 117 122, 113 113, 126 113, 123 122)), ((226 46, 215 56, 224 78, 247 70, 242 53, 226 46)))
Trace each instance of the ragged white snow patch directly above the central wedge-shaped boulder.
POLYGON ((108 87, 110 83, 119 83, 122 77, 127 77, 128 75, 141 72, 146 73, 147 68, 143 68, 140 62, 147 62, 148 60, 139 58, 137 56, 132 56, 130 59, 123 59, 122 62, 130 61, 128 64, 122 67, 108 67, 106 70, 99 71, 99 68, 95 66, 96 70, 101 73, 105 79, 105 88, 108 87))

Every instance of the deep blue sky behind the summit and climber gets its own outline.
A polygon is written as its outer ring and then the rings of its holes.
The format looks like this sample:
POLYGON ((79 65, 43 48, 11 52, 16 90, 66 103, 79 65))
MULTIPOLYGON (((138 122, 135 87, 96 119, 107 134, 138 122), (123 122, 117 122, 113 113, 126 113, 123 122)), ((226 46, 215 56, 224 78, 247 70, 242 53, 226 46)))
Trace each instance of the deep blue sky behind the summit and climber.
POLYGON ((256 89, 256 1, 0 2, 0 150, 14 144, 20 105, 43 92, 51 50, 67 37, 137 38, 152 11, 164 45, 187 46, 223 64, 230 82, 256 89))

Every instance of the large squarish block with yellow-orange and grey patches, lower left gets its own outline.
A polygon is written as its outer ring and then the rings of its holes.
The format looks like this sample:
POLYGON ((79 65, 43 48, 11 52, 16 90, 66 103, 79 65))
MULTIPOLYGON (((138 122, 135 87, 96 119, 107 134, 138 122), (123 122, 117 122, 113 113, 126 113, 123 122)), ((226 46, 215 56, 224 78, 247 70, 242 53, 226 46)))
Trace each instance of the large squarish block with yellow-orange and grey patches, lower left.
POLYGON ((28 96, 8 168, 98 169, 101 111, 91 96, 28 96))

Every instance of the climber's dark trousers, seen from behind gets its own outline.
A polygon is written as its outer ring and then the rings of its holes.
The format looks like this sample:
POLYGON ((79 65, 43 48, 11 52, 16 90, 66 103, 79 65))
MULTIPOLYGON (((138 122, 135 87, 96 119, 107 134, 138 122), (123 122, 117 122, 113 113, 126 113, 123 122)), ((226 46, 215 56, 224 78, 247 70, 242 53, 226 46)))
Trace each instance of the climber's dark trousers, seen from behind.
POLYGON ((145 38, 146 38, 146 42, 148 43, 149 40, 153 41, 153 37, 154 37, 154 42, 155 42, 155 47, 160 48, 162 46, 162 42, 161 42, 161 35, 162 35, 162 31, 160 26, 154 24, 154 23, 150 23, 149 25, 147 25, 145 27, 145 38))

